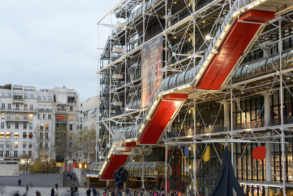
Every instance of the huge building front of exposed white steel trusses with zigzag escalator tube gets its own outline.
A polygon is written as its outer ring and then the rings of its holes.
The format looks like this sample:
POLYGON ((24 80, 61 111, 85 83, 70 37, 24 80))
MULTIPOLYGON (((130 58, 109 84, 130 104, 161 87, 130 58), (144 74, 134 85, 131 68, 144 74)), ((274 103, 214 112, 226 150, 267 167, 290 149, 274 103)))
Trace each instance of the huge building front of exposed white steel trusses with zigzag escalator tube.
MULTIPOLYGON (((205 195, 229 145, 246 194, 291 193, 292 19, 292 0, 120 1, 98 22, 98 40, 106 39, 98 43, 97 176, 110 180, 132 159, 144 168, 154 148, 165 150, 167 168, 174 151, 189 146, 180 175, 205 195), (142 48, 160 36, 161 83, 142 107, 142 48), (266 159, 254 160, 260 145, 266 159)), ((165 173, 167 191, 172 176, 165 173)))

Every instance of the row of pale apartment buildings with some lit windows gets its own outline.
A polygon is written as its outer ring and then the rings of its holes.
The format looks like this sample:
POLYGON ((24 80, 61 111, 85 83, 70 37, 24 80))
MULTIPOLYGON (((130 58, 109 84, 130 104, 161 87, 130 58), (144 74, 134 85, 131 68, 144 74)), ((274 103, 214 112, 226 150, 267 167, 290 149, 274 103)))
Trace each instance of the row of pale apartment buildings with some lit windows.
POLYGON ((65 161, 55 154, 58 127, 66 125, 69 134, 78 134, 85 126, 90 128, 90 115, 96 111, 96 103, 96 97, 80 103, 76 89, 65 86, 40 90, 32 86, 0 86, 0 163, 17 163, 25 155, 34 159, 52 157, 60 167, 64 162, 83 163, 84 155, 77 149, 65 161), (38 146, 35 138, 39 140, 38 146))

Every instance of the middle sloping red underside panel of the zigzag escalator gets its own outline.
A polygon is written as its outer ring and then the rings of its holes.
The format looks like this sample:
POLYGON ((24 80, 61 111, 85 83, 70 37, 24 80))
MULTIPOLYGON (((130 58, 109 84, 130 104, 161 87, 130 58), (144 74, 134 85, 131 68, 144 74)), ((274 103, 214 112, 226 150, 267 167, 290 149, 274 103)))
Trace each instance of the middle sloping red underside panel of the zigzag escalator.
POLYGON ((160 101, 137 144, 155 144, 176 111, 179 101, 160 101))

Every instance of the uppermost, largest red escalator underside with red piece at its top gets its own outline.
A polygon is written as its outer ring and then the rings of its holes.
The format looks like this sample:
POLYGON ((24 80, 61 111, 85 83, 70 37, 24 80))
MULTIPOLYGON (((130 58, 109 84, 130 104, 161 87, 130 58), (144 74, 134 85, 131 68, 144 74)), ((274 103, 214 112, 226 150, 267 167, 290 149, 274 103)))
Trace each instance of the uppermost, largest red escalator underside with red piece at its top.
MULTIPOLYGON (((239 17, 240 20, 257 22, 265 22, 273 18, 274 12, 262 10, 250 10, 239 17)), ((220 54, 213 57, 196 88, 218 90, 259 27, 260 24, 235 21, 218 49, 220 54)))

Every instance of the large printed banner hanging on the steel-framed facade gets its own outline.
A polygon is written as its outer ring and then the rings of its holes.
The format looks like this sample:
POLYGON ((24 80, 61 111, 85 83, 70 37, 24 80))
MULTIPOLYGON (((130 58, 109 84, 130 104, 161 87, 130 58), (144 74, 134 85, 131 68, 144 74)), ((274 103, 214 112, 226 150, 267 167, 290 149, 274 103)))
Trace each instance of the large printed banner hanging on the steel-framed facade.
POLYGON ((151 102, 161 83, 163 59, 163 36, 142 46, 142 107, 151 102))

